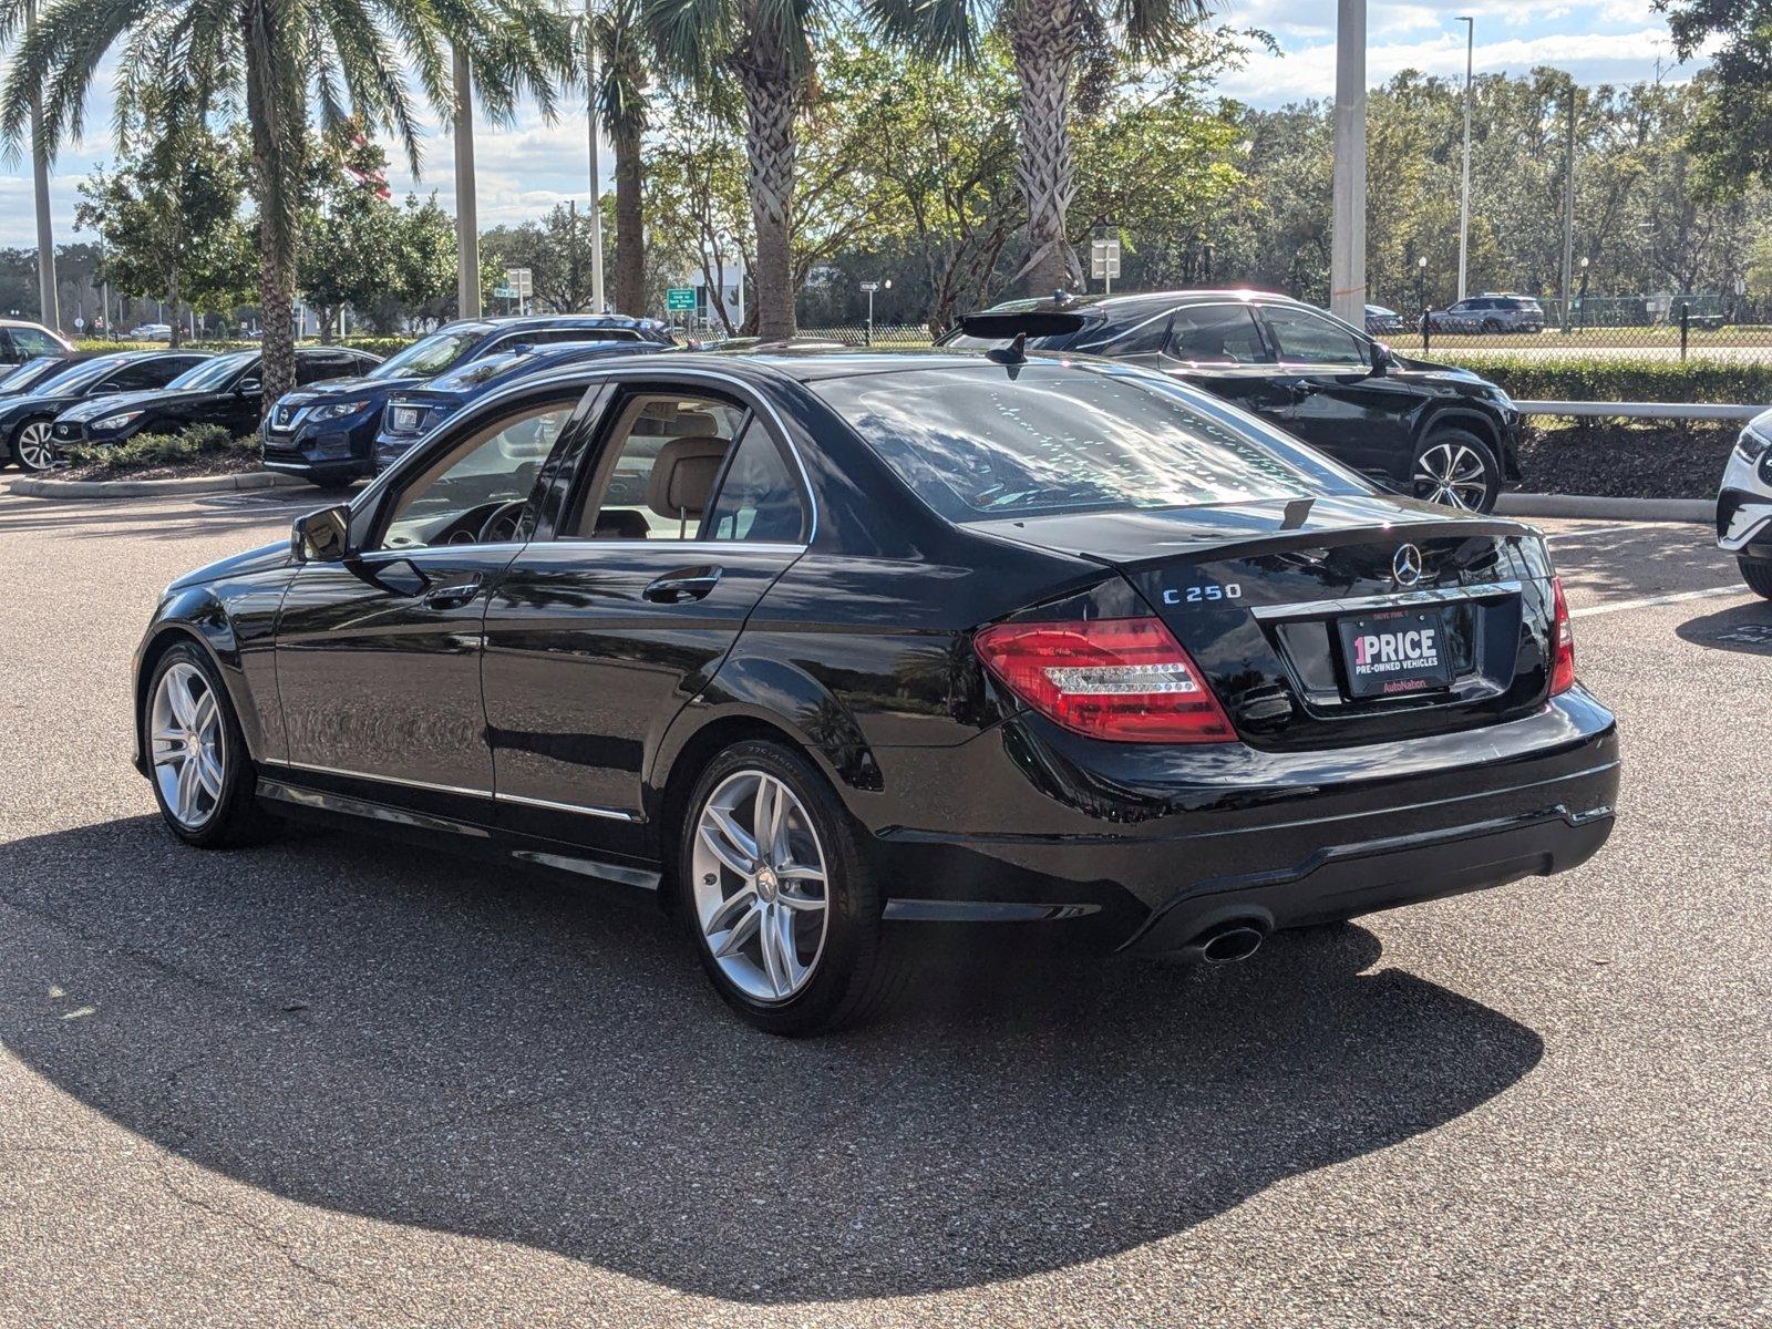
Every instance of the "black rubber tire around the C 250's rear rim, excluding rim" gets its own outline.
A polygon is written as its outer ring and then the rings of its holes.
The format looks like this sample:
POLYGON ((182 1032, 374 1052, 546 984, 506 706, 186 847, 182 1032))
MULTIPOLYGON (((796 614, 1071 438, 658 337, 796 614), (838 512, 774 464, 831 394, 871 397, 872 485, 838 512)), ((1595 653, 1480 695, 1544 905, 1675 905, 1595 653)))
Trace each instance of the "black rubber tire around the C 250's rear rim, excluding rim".
POLYGON ((905 955, 893 944, 897 937, 890 936, 881 920, 884 900, 859 845, 858 828, 824 776, 781 742, 755 739, 737 742, 714 757, 696 778, 686 803, 673 863, 677 914, 714 991, 748 1024, 783 1037, 831 1033, 875 1017, 904 991, 905 955), (702 812, 730 776, 744 771, 780 780, 799 799, 824 852, 822 948, 804 987, 781 1001, 760 1001, 721 971, 703 934, 691 881, 702 812))

